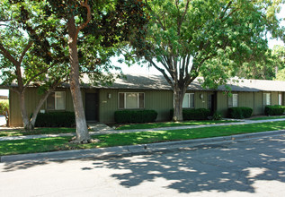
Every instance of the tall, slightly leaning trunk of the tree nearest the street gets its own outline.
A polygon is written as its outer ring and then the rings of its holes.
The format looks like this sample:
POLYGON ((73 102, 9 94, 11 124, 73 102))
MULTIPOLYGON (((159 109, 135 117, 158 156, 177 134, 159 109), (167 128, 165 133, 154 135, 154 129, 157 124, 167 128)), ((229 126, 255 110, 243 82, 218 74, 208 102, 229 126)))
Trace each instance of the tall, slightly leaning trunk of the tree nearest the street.
POLYGON ((68 18, 68 47, 70 58, 70 91, 76 114, 76 140, 74 142, 87 143, 91 141, 85 120, 85 111, 79 83, 79 62, 76 46, 76 24, 74 16, 68 18))

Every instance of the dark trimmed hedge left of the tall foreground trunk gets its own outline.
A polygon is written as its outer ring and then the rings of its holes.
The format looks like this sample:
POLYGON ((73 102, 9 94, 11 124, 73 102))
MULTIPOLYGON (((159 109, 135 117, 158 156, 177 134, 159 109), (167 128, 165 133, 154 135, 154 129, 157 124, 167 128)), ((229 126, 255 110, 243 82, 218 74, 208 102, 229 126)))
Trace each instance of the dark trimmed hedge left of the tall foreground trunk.
POLYGON ((74 112, 48 112, 39 113, 36 127, 74 127, 76 116, 74 112))

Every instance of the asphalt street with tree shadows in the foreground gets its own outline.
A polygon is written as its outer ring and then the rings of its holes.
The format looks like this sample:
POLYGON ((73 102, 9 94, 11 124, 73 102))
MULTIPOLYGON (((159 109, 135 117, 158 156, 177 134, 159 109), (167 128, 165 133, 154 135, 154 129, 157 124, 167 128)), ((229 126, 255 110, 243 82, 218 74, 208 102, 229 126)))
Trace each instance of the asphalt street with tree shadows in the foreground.
POLYGON ((285 135, 108 158, 0 163, 1 196, 285 196, 285 135))

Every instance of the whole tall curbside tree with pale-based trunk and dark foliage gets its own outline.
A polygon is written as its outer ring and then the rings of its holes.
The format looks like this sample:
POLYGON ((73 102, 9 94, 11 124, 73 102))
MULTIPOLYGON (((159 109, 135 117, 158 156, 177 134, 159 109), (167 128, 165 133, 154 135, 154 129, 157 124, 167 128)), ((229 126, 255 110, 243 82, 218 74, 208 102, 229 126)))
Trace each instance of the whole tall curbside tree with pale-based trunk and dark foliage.
MULTIPOLYGON (((56 15, 59 20, 65 22, 67 27, 70 90, 76 113, 74 142, 90 142, 80 91, 80 73, 96 69, 96 65, 101 64, 101 56, 97 56, 100 52, 99 48, 115 47, 120 44, 120 41, 131 41, 139 48, 139 40, 145 33, 142 27, 147 21, 143 13, 144 4, 140 0, 112 2, 47 0, 47 2, 49 4, 46 7, 46 13, 56 15), (86 50, 86 47, 91 50, 86 50), (78 49, 81 49, 79 53, 78 49), (87 69, 82 69, 80 55, 91 58, 84 61, 85 65, 89 66, 87 69)), ((104 54, 104 59, 106 60, 111 53, 109 50, 109 53, 104 54)), ((93 76, 96 75, 98 76, 94 72, 93 76)))

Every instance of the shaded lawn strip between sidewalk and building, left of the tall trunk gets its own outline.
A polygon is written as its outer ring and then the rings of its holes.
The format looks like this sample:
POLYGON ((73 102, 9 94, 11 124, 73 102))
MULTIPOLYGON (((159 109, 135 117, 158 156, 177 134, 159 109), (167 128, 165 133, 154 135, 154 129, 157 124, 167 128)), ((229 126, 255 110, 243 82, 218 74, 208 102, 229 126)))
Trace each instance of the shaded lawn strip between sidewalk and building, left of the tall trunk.
POLYGON ((75 128, 35 128, 33 131, 26 132, 24 129, 4 129, 0 130, 0 137, 12 137, 31 134, 58 134, 76 133, 75 128))

